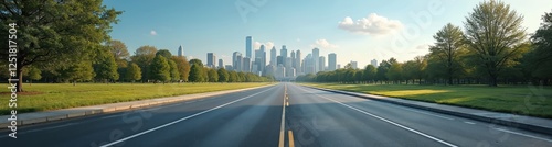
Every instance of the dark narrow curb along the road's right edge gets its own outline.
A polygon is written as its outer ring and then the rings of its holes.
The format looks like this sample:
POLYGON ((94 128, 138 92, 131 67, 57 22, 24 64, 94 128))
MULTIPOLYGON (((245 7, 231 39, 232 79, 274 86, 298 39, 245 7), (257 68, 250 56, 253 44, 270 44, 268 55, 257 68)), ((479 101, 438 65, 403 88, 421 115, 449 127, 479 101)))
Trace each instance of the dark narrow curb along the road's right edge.
POLYGON ((408 106, 408 108, 421 109, 421 110, 437 112, 437 113, 442 113, 442 114, 448 114, 448 115, 487 122, 487 123, 491 123, 491 124, 499 124, 499 125, 505 125, 505 126, 514 127, 514 128, 521 128, 521 129, 526 129, 526 131, 530 131, 530 132, 537 132, 537 133, 541 133, 541 134, 552 135, 552 128, 545 127, 545 126, 539 126, 539 125, 533 125, 533 124, 527 124, 527 123, 520 123, 520 122, 500 120, 500 118, 493 118, 493 117, 486 117, 486 116, 480 116, 480 115, 475 115, 475 114, 469 114, 469 113, 461 113, 461 112, 423 106, 423 105, 417 105, 417 104, 412 104, 412 103, 397 102, 397 101, 393 101, 393 100, 378 99, 378 98, 372 98, 372 97, 368 97, 368 95, 361 95, 361 93, 357 93, 357 92, 330 90, 330 89, 316 88, 316 87, 309 87, 309 86, 302 86, 302 87, 308 87, 311 89, 318 89, 318 90, 333 92, 333 93, 364 98, 364 99, 375 100, 375 101, 380 101, 380 102, 399 104, 399 105, 404 105, 404 106, 408 106))

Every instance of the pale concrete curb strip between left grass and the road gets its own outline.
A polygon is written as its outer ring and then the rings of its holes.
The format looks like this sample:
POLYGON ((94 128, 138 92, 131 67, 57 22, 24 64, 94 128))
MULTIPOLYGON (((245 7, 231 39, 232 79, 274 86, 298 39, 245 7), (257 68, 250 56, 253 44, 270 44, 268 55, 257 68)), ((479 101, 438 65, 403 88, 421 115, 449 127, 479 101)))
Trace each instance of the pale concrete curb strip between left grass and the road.
MULTIPOLYGON (((132 110, 132 109, 138 109, 138 108, 147 108, 147 106, 152 106, 152 105, 170 104, 170 103, 197 100, 197 99, 202 99, 202 98, 208 98, 208 97, 215 97, 215 95, 242 92, 242 91, 254 90, 254 89, 259 89, 259 88, 266 88, 266 87, 272 87, 272 86, 275 86, 275 84, 272 83, 272 84, 267 84, 267 86, 245 88, 245 89, 213 91, 213 92, 206 92, 206 93, 194 93, 194 94, 184 94, 184 95, 166 97, 166 98, 157 98, 157 99, 146 99, 146 100, 140 100, 140 101, 121 102, 121 103, 129 103, 127 105, 114 105, 114 106, 105 106, 105 108, 100 108, 98 105, 89 105, 89 106, 83 106, 83 108, 91 108, 91 109, 79 111, 79 112, 74 112, 74 113, 63 113, 63 112, 55 112, 55 111, 34 112, 34 113, 53 113, 53 115, 43 116, 43 117, 32 117, 32 118, 18 118, 17 126, 20 127, 23 125, 46 123, 46 122, 53 122, 53 121, 73 118, 73 117, 81 117, 81 116, 97 115, 97 114, 115 112, 115 111, 124 111, 124 110, 132 110), (182 98, 178 98, 178 97, 182 97, 182 98), (170 98, 172 98, 172 99, 170 99, 170 98), (95 106, 97 106, 97 108, 95 108, 95 106), (61 114, 55 115, 55 113, 61 113, 61 114)), ((107 103, 105 105, 108 105, 108 104, 117 104, 117 103, 107 103)), ((72 109, 77 109, 77 108, 72 108, 72 109)), ((56 110, 56 111, 62 111, 62 110, 56 110)), ((31 113, 33 113, 33 112, 31 112, 31 113)), ((22 113, 22 114, 29 114, 29 113, 22 113)), ((18 115, 20 115, 20 114, 18 114, 18 115)), ((6 116, 10 116, 10 115, 6 115, 6 116)), ((11 121, 1 122, 0 123, 0 131, 9 129, 8 126, 11 126, 11 121)))

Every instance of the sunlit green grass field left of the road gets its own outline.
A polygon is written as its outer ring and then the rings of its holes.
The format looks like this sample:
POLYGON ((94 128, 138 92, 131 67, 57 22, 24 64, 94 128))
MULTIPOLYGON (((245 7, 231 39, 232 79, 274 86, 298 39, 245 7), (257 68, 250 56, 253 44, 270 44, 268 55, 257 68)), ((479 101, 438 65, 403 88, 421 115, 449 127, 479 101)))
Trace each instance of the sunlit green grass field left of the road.
MULTIPOLYGON (((33 83, 32 86, 23 86, 25 92, 18 94, 17 110, 18 113, 36 112, 265 84, 269 83, 77 83, 76 86, 71 83, 33 83)), ((0 92, 0 115, 7 115, 11 111, 8 106, 9 89, 3 88, 0 92)))

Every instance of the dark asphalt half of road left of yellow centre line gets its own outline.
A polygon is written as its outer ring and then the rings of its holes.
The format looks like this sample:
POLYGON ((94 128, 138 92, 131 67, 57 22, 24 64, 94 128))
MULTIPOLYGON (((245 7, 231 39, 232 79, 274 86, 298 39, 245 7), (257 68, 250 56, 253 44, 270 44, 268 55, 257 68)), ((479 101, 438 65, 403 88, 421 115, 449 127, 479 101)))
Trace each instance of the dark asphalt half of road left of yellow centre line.
POLYGON ((0 137, 0 146, 278 146, 283 92, 284 84, 277 84, 129 112, 22 126, 17 139, 0 137))

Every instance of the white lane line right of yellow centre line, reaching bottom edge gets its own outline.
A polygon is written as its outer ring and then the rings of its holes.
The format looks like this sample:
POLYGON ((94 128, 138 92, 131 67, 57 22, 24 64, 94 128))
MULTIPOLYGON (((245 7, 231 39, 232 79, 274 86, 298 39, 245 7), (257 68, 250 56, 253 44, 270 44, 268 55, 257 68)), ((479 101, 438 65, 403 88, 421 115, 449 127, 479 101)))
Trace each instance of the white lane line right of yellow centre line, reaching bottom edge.
MULTIPOLYGON (((305 90, 305 89, 304 89, 304 91, 307 91, 307 90, 305 90)), ((309 92, 309 91, 307 91, 307 92, 309 92)), ((309 92, 309 93, 312 93, 312 92, 309 92)), ((375 118, 381 120, 381 121, 383 121, 383 122, 386 122, 386 123, 390 123, 390 124, 392 124, 392 125, 399 126, 399 127, 404 128, 404 129, 406 129, 406 131, 410 131, 410 132, 412 132, 412 133, 415 133, 415 134, 422 135, 422 136, 424 136, 424 137, 426 137, 426 138, 433 139, 433 140, 435 140, 435 142, 438 142, 438 143, 440 143, 440 144, 447 145, 447 146, 449 146, 449 147, 457 147, 456 145, 454 145, 454 144, 452 144, 452 143, 448 143, 448 142, 442 140, 442 139, 439 139, 439 138, 433 137, 433 136, 427 135, 427 134, 425 134, 425 133, 418 132, 418 131, 416 131, 416 129, 414 129, 414 128, 410 128, 410 127, 406 127, 406 126, 404 126, 404 125, 397 124, 397 123, 395 123, 395 122, 389 121, 389 120, 386 120, 386 118, 383 118, 383 117, 381 117, 381 116, 374 115, 374 114, 372 114, 372 113, 368 113, 368 112, 365 112, 365 111, 363 111, 363 110, 357 109, 357 108, 351 106, 351 105, 349 105, 349 104, 344 104, 344 103, 341 103, 341 102, 336 101, 336 100, 333 100, 333 99, 330 99, 330 98, 327 98, 327 97, 323 97, 323 95, 319 95, 319 94, 316 94, 316 93, 312 93, 312 94, 318 95, 318 97, 321 97, 321 98, 327 99, 327 100, 330 100, 330 101, 333 101, 333 102, 336 102, 336 103, 338 103, 338 104, 341 104, 341 105, 343 105, 343 106, 346 106, 346 108, 349 108, 349 109, 354 110, 354 111, 358 111, 358 112, 360 112, 360 113, 363 113, 363 114, 370 115, 370 116, 372 116, 372 117, 375 117, 375 118)))

